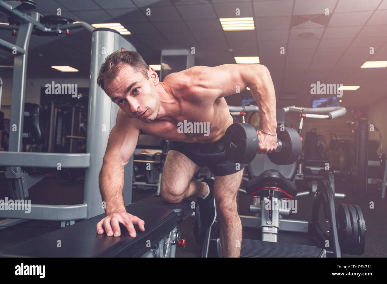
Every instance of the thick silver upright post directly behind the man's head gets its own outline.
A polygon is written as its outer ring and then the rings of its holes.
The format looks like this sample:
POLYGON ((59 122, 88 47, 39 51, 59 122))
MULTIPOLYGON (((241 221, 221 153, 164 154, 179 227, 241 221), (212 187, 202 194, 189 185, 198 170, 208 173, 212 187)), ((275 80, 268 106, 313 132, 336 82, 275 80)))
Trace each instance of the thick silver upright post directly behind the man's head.
MULTIPOLYGON (((106 57, 116 50, 135 51, 135 48, 119 32, 99 28, 92 32, 90 65, 89 112, 87 125, 87 153, 90 153, 90 167, 85 173, 84 203, 87 204, 87 218, 104 212, 99 192, 99 171, 108 143, 111 129, 116 123, 118 106, 97 85, 99 68, 106 57)), ((123 196, 125 204, 132 197, 133 156, 124 168, 125 183, 123 196)))

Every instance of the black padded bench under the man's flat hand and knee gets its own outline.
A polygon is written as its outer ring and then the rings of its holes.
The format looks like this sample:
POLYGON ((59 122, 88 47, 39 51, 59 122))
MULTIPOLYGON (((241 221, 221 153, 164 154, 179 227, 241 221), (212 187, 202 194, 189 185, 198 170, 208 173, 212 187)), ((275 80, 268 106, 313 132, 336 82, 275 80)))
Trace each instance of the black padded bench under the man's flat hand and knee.
POLYGON ((171 204, 161 197, 149 197, 127 206, 128 213, 145 221, 144 232, 135 226, 135 238, 122 226, 119 237, 99 235, 96 226, 106 216, 103 213, 7 248, 0 257, 141 257, 193 211, 190 201, 171 204), (58 240, 61 247, 57 247, 58 240))

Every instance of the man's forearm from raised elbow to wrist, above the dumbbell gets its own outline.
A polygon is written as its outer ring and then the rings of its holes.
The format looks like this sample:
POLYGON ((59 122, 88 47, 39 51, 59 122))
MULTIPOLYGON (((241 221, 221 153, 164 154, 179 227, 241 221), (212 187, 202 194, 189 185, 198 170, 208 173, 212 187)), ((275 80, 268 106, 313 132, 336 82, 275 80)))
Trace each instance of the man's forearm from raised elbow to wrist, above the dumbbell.
POLYGON ((248 84, 250 92, 259 107, 260 129, 267 133, 276 133, 276 93, 269 71, 265 66, 260 66, 257 80, 248 84))

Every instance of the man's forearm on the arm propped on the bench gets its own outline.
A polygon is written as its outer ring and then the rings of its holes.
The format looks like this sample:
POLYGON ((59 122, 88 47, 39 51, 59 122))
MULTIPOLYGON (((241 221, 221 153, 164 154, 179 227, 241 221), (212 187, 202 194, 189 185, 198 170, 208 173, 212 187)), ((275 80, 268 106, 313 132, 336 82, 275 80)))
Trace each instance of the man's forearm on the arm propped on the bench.
POLYGON ((106 202, 106 214, 126 211, 122 196, 123 183, 124 173, 120 158, 105 155, 99 173, 99 189, 102 200, 106 202))

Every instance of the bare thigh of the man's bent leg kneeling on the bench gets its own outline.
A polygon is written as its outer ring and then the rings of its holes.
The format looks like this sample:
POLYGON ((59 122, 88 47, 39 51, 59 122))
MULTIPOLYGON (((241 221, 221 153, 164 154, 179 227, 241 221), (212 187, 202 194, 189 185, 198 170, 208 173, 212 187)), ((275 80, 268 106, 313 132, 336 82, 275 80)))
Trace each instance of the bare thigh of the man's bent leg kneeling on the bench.
POLYGON ((161 189, 183 192, 199 169, 200 167, 184 154, 169 150, 163 167, 161 189))

